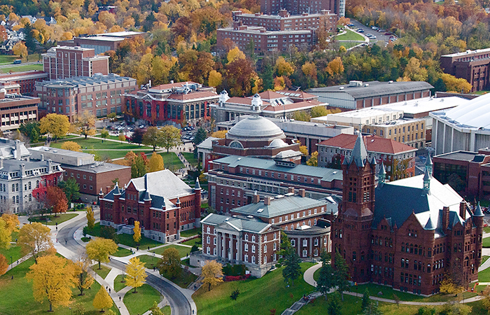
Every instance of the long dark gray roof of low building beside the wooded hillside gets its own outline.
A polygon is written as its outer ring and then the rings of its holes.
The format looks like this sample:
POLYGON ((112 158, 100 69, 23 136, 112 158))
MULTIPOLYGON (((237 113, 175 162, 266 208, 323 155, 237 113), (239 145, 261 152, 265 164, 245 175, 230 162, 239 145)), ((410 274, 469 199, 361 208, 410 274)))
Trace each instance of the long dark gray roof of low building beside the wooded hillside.
POLYGON ((306 92, 315 94, 318 92, 341 92, 350 94, 354 99, 361 99, 364 97, 373 97, 378 95, 388 95, 405 93, 419 90, 428 90, 434 88, 427 82, 423 81, 408 81, 408 82, 379 82, 370 81, 363 83, 360 87, 351 87, 349 84, 335 85, 329 87, 316 87, 314 89, 307 90, 306 92), (365 84, 369 86, 364 86, 365 84), (340 90, 340 87, 344 87, 340 90))

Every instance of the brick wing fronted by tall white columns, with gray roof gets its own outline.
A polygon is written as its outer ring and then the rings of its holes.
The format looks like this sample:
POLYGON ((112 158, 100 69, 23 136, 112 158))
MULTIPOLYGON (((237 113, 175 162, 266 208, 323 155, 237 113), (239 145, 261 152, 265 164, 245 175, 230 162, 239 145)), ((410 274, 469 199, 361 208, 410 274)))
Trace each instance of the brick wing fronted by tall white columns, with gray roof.
POLYGON ((219 214, 209 214, 201 223, 202 255, 191 255, 193 265, 224 260, 244 264, 260 277, 277 263, 281 230, 274 225, 219 214))

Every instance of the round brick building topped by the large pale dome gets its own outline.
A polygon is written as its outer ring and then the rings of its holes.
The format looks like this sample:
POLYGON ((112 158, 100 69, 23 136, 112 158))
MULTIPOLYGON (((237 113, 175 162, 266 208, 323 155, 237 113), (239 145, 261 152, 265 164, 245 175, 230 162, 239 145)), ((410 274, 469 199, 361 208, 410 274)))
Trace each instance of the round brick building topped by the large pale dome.
POLYGON ((287 156, 295 164, 300 162, 299 141, 287 138, 271 120, 261 116, 241 116, 238 119, 239 122, 228 131, 225 139, 212 141, 214 158, 227 155, 269 159, 287 156), (288 154, 279 155, 283 151, 288 151, 288 154))

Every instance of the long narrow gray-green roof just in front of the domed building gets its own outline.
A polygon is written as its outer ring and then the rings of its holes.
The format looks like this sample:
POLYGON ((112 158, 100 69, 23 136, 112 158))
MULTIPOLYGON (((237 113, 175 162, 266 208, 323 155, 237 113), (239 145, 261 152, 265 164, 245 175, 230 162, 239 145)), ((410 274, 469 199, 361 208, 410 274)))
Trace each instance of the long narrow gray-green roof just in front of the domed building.
POLYGON ((296 165, 295 167, 283 167, 276 165, 274 160, 251 158, 248 156, 230 155, 225 158, 214 160, 213 162, 228 164, 229 167, 254 167, 273 172, 285 172, 304 176, 319 177, 323 181, 342 181, 342 171, 339 169, 328 169, 325 167, 314 167, 309 165, 296 165))

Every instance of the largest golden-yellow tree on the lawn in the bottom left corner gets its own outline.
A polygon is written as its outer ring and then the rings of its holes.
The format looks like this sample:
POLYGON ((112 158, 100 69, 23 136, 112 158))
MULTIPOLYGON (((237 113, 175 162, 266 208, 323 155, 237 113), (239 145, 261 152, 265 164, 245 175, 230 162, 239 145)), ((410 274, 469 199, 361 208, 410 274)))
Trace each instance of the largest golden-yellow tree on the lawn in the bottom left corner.
POLYGON ((67 306, 71 299, 71 288, 75 286, 73 264, 66 258, 48 255, 31 265, 26 277, 32 280, 34 300, 48 300, 50 309, 67 306))

